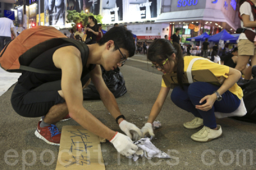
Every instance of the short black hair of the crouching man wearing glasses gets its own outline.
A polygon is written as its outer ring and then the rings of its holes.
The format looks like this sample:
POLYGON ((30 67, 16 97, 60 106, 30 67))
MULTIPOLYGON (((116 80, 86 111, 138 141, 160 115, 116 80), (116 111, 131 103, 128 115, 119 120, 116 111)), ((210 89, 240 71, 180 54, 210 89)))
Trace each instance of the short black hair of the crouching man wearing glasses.
POLYGON ((104 45, 104 43, 109 40, 113 40, 115 42, 115 50, 118 49, 116 47, 116 45, 118 45, 119 48, 125 49, 129 52, 129 58, 134 56, 135 43, 130 30, 125 29, 123 26, 112 27, 106 34, 104 34, 104 36, 102 36, 98 43, 99 45, 104 45))

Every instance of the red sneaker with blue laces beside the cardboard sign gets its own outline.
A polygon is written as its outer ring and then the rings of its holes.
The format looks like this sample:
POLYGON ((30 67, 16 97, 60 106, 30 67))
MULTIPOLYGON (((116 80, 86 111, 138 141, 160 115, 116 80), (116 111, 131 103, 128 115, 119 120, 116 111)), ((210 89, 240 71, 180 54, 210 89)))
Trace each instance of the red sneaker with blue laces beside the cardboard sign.
POLYGON ((40 127, 41 121, 38 122, 35 135, 39 139, 44 140, 48 144, 53 145, 59 145, 60 146, 60 135, 61 132, 59 132, 56 125, 51 125, 48 127, 40 127))

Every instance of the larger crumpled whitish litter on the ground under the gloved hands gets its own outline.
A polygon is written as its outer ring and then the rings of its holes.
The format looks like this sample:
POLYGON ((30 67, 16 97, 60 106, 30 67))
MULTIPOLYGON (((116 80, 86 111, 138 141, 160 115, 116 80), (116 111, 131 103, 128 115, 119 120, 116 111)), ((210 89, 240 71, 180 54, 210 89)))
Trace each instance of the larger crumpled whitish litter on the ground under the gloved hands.
POLYGON ((139 157, 145 156, 148 159, 151 158, 170 158, 169 155, 164 153, 163 151, 159 150, 154 146, 154 144, 151 143, 150 139, 148 137, 142 138, 139 141, 134 142, 139 149, 136 151, 134 155, 131 155, 131 157, 134 161, 138 160, 139 157))

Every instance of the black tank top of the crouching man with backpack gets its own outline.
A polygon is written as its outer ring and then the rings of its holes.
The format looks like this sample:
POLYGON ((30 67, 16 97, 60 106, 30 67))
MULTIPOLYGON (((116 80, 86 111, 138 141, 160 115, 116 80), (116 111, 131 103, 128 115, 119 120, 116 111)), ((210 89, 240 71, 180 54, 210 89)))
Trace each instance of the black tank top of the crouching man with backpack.
MULTIPOLYGON (((42 70, 50 70, 50 71, 58 71, 60 73, 35 73, 35 72, 28 72, 23 71, 22 75, 20 75, 18 79, 18 83, 25 89, 32 90, 37 88, 38 86, 41 86, 42 84, 45 84, 47 82, 54 82, 54 81, 60 81, 61 80, 61 69, 56 68, 52 61, 52 55, 57 49, 60 49, 61 47, 65 47, 68 45, 74 45, 73 43, 65 43, 63 45, 59 45, 58 47, 54 47, 52 49, 49 49, 37 58, 35 58, 31 64, 30 67, 38 68, 42 70)), ((84 85, 85 82, 83 82, 83 78, 86 77, 90 71, 95 68, 95 65, 90 65, 89 68, 86 68, 88 56, 82 59, 83 63, 83 72, 81 76, 81 82, 84 85)))

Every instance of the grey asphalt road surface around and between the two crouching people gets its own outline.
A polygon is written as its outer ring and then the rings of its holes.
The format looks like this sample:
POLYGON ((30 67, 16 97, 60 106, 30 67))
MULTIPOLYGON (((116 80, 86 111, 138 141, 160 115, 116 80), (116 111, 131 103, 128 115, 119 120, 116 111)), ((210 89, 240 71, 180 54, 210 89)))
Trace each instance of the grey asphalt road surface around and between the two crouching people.
MULTIPOLYGON (((144 55, 136 55, 120 69, 128 92, 117 98, 120 110, 127 121, 139 128, 147 121, 145 116, 148 116, 161 88, 161 73, 153 71, 151 63, 147 63, 146 60, 144 55)), ((0 97, 0 169, 55 169, 59 146, 49 145, 35 136, 34 132, 40 118, 23 118, 13 111, 10 103, 12 91, 13 87, 0 97), (14 150, 15 153, 8 153, 10 150, 14 150), (32 152, 29 153, 29 150, 32 152), (52 164, 50 153, 45 153, 44 157, 40 158, 44 150, 52 151, 52 164), (36 160, 33 160, 33 151, 36 160), (42 159, 50 165, 42 164, 42 159)), ((83 105, 102 123, 122 132, 100 100, 86 100, 83 105)), ((170 100, 170 94, 156 120, 161 121, 162 127, 154 131, 156 137, 152 143, 172 158, 139 158, 137 162, 123 156, 118 159, 115 148, 107 142, 101 144, 106 169, 256 169, 254 123, 230 118, 217 120, 223 130, 220 139, 209 143, 192 141, 190 136, 200 128, 189 130, 183 127, 182 124, 193 120, 193 116, 176 107, 170 100), (248 151, 244 153, 244 157, 243 150, 248 151)), ((74 120, 57 123, 60 129, 64 125, 78 124, 74 120)))

